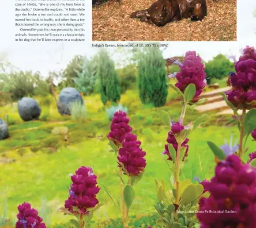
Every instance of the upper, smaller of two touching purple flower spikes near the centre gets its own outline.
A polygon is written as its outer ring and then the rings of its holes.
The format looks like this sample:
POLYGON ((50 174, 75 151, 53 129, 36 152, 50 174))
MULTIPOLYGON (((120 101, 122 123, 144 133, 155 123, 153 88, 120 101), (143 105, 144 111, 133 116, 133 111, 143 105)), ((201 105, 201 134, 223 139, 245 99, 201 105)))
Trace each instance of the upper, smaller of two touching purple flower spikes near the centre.
POLYGON ((110 126, 111 132, 108 133, 107 137, 118 147, 125 139, 125 135, 133 130, 128 124, 129 121, 130 119, 126 117, 126 113, 120 110, 116 111, 114 117, 112 118, 112 123, 110 126))

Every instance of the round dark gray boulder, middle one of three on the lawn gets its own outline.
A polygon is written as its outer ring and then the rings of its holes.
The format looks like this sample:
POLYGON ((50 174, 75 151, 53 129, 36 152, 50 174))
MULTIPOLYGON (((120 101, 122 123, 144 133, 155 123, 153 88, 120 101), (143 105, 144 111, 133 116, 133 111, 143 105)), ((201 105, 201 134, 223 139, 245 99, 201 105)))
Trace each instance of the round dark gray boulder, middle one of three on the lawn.
POLYGON ((39 104, 33 98, 22 98, 18 101, 18 113, 24 121, 38 119, 41 111, 39 104))

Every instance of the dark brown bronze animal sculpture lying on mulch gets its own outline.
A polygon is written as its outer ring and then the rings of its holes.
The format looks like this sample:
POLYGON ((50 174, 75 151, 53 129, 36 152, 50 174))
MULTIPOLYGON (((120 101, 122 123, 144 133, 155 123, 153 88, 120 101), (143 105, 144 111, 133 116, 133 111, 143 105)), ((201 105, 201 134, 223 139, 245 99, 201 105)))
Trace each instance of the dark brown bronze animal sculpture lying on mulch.
POLYGON ((202 20, 206 16, 206 11, 205 0, 158 0, 148 9, 135 11, 130 17, 148 24, 164 26, 182 18, 202 20))

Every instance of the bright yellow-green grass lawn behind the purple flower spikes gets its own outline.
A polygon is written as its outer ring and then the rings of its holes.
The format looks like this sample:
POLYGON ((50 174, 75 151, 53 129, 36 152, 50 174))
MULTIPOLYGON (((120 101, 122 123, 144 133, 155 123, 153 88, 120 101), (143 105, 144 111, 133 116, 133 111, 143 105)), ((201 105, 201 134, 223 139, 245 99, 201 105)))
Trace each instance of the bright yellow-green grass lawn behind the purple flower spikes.
MULTIPOLYGON (((173 93, 169 92, 169 99, 175 96, 173 93)), ((40 103, 43 99, 38 98, 37 101, 40 103)), ((70 218, 58 212, 58 208, 63 207, 68 196, 67 186, 71 183, 69 173, 74 173, 81 165, 93 167, 98 176, 99 186, 104 183, 114 198, 118 198, 119 177, 115 175, 116 157, 114 153, 109 152, 110 146, 106 137, 111 122, 99 95, 85 96, 84 101, 88 110, 88 117, 84 123, 73 121, 70 117, 61 117, 54 99, 50 108, 42 106, 39 121, 22 122, 15 103, 13 106, 1 107, 0 118, 9 115, 10 137, 0 141, 0 157, 5 161, 0 163, 0 219, 1 215, 5 215, 6 218, 15 221, 18 204, 29 202, 44 215, 41 214, 44 221, 50 223, 49 227, 59 227, 58 224, 67 223, 70 218), (55 126, 69 127, 69 145, 62 136, 51 134, 55 126), (7 208, 4 206, 5 203, 7 208)), ((131 217, 133 226, 141 227, 141 222, 134 222, 136 219, 144 219, 149 214, 151 218, 151 215, 155 214, 155 179, 163 177, 168 181, 171 176, 161 155, 170 129, 163 124, 156 108, 141 104, 137 90, 127 91, 122 95, 121 103, 128 107, 133 133, 137 134, 138 140, 142 142, 142 149, 146 152, 145 176, 135 187, 136 196, 130 209, 131 216, 136 215, 136 218, 131 217)), ((181 110, 179 103, 161 109, 168 111, 171 117, 178 121, 181 110)), ((187 110, 185 123, 199 115, 193 109, 187 110)), ((201 180, 210 179, 215 163, 206 141, 213 141, 220 146, 224 144, 224 138, 229 140, 232 133, 234 138, 238 138, 238 130, 231 118, 216 117, 214 113, 208 113, 204 125, 194 130, 189 137, 189 163, 182 170, 181 178, 184 179, 186 176, 193 180, 197 176, 201 180)), ((252 145, 251 140, 249 141, 248 146, 252 145)), ((246 156, 249 152, 252 151, 249 150, 246 156)), ((97 212, 95 220, 108 221, 110 218, 120 217, 121 214, 103 187, 98 198, 104 206, 97 212)), ((149 225, 146 224, 147 220, 142 223, 149 225)))

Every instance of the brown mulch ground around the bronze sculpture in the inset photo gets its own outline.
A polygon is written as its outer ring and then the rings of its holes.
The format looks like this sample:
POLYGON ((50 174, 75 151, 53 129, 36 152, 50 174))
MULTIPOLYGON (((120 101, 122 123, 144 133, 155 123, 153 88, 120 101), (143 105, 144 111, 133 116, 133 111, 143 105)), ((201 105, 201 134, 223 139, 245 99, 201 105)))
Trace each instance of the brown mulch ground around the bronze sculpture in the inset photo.
POLYGON ((236 0, 206 0, 202 21, 183 19, 164 27, 130 18, 156 0, 110 0, 92 9, 93 41, 236 41, 236 0))

